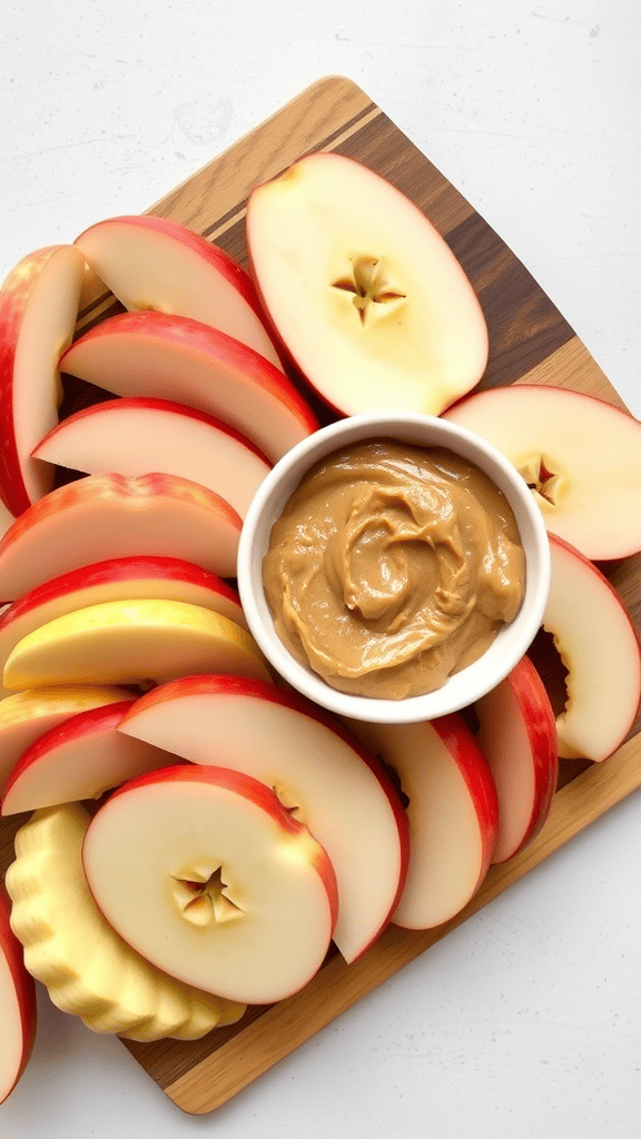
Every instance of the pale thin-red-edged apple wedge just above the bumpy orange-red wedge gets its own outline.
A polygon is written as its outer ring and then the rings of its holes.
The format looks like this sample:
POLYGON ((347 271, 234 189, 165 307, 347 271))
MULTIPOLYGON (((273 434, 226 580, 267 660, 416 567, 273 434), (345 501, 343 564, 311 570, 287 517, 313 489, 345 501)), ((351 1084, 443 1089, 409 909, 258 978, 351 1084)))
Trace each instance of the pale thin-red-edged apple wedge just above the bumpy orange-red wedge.
POLYGON ((33 456, 90 475, 178 475, 219 494, 241 518, 271 469, 258 448, 222 420, 155 399, 83 408, 54 427, 33 456))

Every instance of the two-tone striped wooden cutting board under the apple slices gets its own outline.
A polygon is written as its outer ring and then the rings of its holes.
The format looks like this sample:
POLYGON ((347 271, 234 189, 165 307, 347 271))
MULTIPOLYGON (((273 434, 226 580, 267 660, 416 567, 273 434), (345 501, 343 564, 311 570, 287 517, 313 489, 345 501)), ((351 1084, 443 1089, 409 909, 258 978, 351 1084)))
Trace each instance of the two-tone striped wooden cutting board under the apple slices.
MULTIPOLYGON (((459 257, 484 308, 490 357, 481 386, 557 384, 623 407, 584 344, 537 282, 462 195, 354 83, 328 77, 175 189, 148 212, 171 218, 246 261, 244 213, 250 189, 310 150, 338 150, 373 167, 412 198, 459 257)), ((96 219, 99 220, 99 219, 96 219)), ((98 282, 84 289, 79 331, 114 311, 98 282)), ((601 566, 641 630, 641 556, 601 566)), ((538 646, 550 689, 559 687, 549 646, 538 646), (547 671, 545 671, 547 670, 547 671)), ((553 694, 559 699, 559 691, 553 694)), ((562 763, 551 816, 519 857, 494 867, 472 902, 436 931, 390 926, 350 966, 336 954, 301 993, 201 1041, 123 1041, 160 1088, 185 1112, 219 1107, 408 961, 479 910, 512 882, 641 785, 640 722, 607 763, 562 763)), ((26 817, 0 820, 0 871, 26 817)))

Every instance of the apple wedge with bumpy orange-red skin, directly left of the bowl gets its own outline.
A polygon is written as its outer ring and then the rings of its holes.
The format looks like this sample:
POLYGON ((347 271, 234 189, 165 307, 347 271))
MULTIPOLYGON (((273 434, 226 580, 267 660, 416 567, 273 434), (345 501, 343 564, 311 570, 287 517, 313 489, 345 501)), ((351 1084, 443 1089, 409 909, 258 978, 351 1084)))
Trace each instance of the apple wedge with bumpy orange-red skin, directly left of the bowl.
POLYGON ((87 475, 25 510, 0 541, 0 598, 109 557, 160 555, 234 577, 242 521, 225 499, 177 475, 87 475))

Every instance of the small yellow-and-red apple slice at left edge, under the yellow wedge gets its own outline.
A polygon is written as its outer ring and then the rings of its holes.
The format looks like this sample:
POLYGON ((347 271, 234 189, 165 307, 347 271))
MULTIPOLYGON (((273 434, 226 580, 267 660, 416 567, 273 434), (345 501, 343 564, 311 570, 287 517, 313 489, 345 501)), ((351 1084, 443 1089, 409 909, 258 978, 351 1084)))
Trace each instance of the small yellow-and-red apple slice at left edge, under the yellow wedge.
POLYGON ((130 695, 107 685, 52 685, 6 696, 0 700, 0 794, 21 755, 39 736, 79 712, 113 704, 130 695))

